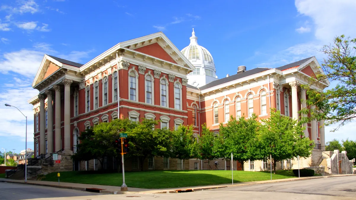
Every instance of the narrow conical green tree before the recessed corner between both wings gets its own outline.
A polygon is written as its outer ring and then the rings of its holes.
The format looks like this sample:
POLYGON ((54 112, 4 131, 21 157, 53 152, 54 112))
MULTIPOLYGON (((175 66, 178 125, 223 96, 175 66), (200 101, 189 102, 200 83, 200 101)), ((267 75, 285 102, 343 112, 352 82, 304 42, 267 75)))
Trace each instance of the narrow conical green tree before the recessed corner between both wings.
POLYGON ((198 143, 196 145, 197 150, 194 152, 197 153, 197 158, 207 160, 208 165, 210 165, 211 160, 218 158, 218 154, 214 148, 215 136, 213 131, 210 131, 209 128, 206 127, 205 123, 201 129, 201 136, 199 137, 198 143))

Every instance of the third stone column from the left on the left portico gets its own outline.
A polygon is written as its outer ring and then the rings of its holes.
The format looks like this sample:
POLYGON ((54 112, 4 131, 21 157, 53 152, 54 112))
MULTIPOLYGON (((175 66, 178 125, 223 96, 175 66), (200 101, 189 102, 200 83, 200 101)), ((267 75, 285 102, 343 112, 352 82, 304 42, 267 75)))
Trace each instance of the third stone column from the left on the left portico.
POLYGON ((59 151, 61 150, 61 87, 59 85, 54 85, 53 86, 54 91, 56 91, 56 117, 55 117, 55 123, 56 125, 54 126, 54 130, 55 130, 55 136, 56 139, 54 141, 55 143, 55 151, 59 151))

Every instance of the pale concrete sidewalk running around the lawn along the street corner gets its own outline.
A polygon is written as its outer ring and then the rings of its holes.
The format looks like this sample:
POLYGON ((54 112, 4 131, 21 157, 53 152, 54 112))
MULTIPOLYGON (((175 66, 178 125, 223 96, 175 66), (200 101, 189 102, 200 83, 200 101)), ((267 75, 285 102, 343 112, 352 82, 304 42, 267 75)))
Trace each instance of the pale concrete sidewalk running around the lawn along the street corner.
MULTIPOLYGON (((254 185, 254 184, 263 184, 263 183, 277 183, 277 182, 286 182, 286 181, 298 181, 298 180, 308 180, 308 179, 318 179, 318 178, 330 178, 330 177, 346 177, 353 176, 354 174, 337 174, 330 176, 317 176, 317 177, 301 177, 301 178, 287 178, 287 179, 276 179, 276 180, 264 180, 264 181, 254 181, 246 183, 236 183, 232 184, 223 184, 223 185, 206 185, 206 186, 195 186, 195 187, 184 187, 184 188, 166 188, 166 189, 143 189, 143 188, 128 188, 129 191, 122 192, 119 186, 110 186, 110 185, 91 185, 91 184, 81 184, 81 183, 64 183, 53 182, 53 181, 42 181, 42 180, 27 180, 27 183, 24 180, 12 180, 6 178, 0 178, 0 182, 7 183, 17 183, 17 184, 28 184, 28 185, 40 185, 40 186, 49 186, 55 188, 66 188, 66 189, 75 189, 75 190, 86 190, 87 188, 101 189, 100 193, 104 194, 153 194, 153 193, 177 193, 178 190, 189 189, 192 191, 200 190, 209 190, 209 189, 218 189, 218 188, 227 188, 227 187, 237 187, 243 185, 254 185)), ((355 174, 356 175, 356 174, 355 174)))

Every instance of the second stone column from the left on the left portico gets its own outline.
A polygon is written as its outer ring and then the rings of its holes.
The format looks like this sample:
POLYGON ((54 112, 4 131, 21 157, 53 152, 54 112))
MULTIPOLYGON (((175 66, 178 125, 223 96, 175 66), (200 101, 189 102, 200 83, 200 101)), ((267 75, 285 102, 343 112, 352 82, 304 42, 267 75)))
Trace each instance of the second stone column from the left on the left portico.
POLYGON ((52 91, 47 90, 47 152, 53 153, 53 105, 52 91))

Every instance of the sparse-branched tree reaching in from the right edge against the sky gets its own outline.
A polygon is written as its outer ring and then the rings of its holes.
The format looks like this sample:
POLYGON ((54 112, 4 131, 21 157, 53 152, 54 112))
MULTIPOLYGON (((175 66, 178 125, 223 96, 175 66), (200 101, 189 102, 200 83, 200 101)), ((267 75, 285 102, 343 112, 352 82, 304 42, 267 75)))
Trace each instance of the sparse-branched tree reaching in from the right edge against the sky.
POLYGON ((315 105, 323 113, 312 112, 312 118, 325 119, 326 125, 339 123, 333 131, 356 117, 356 39, 341 35, 334 38, 334 44, 325 45, 321 52, 327 58, 321 64, 324 73, 316 73, 310 85, 317 82, 335 81, 335 88, 319 92, 307 90, 308 105, 315 105))

